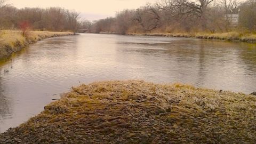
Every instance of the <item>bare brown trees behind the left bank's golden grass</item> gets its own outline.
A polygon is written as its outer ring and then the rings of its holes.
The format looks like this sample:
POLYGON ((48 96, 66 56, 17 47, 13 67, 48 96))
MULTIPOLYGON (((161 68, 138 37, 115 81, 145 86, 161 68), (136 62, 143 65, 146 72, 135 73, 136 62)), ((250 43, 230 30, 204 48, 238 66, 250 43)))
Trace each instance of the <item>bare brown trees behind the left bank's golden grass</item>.
POLYGON ((0 29, 19 29, 24 22, 31 29, 49 31, 77 31, 81 25, 76 11, 60 7, 17 9, 7 4, 7 0, 0 0, 0 29))

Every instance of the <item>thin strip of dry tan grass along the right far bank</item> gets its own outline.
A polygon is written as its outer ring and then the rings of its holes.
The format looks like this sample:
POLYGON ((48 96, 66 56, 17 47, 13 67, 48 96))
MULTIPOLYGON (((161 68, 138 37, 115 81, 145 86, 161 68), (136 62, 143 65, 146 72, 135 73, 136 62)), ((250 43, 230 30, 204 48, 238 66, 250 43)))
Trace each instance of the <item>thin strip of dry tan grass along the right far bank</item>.
POLYGON ((226 41, 241 41, 247 43, 256 43, 256 34, 252 33, 149 33, 149 34, 137 34, 131 33, 129 35, 141 35, 141 36, 170 36, 170 37, 194 37, 203 39, 220 39, 226 41))

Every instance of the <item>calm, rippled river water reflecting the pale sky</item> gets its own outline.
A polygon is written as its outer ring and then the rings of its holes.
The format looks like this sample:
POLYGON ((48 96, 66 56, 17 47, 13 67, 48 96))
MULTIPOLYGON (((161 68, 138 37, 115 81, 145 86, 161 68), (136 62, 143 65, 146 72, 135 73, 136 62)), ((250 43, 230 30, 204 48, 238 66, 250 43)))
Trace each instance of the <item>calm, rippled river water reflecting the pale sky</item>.
POLYGON ((249 94, 256 91, 256 45, 81 34, 30 45, 0 64, 0 77, 1 133, 81 83, 143 79, 249 94))

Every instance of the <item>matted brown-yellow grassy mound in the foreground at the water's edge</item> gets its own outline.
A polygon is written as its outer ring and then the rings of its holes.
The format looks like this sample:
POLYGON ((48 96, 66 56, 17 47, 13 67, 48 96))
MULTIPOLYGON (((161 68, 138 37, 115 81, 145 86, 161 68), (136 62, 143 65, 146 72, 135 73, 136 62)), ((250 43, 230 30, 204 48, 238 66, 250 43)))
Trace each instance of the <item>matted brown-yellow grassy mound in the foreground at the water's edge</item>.
POLYGON ((256 97, 143 81, 73 87, 0 143, 255 143, 256 97))

